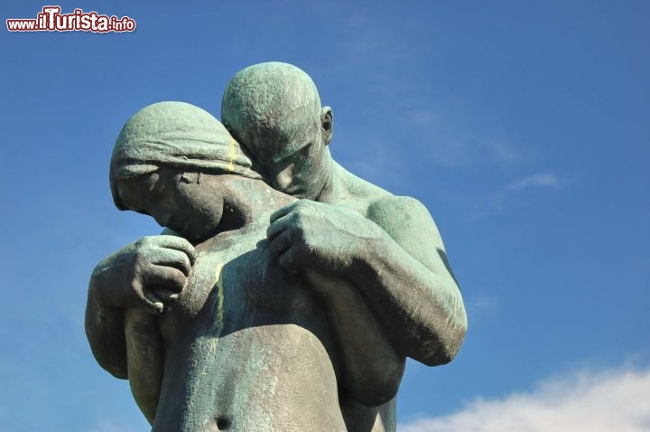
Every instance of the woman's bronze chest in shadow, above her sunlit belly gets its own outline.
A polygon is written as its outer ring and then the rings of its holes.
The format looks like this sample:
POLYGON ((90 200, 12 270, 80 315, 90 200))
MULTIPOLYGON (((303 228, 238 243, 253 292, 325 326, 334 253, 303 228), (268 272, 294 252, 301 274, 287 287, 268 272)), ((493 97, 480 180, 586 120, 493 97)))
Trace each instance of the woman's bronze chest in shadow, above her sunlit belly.
POLYGON ((320 329, 320 305, 300 277, 280 268, 268 242, 242 236, 200 252, 188 284, 160 325, 166 341, 182 333, 218 336, 267 324, 320 329))

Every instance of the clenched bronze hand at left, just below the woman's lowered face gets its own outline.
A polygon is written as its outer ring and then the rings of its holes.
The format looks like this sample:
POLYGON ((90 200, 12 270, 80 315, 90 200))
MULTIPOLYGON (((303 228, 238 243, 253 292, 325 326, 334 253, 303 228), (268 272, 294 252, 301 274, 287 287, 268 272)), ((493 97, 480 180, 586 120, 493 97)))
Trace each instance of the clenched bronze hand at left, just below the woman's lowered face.
POLYGON ((95 268, 91 287, 105 305, 163 312, 187 285, 197 252, 187 239, 150 236, 118 250, 95 268))

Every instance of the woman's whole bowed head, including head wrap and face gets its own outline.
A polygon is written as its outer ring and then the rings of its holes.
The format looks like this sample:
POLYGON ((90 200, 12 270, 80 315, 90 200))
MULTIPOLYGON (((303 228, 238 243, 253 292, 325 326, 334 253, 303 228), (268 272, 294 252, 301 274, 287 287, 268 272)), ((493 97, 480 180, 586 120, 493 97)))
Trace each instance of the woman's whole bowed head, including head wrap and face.
POLYGON ((110 185, 118 208, 149 214, 200 240, 214 234, 223 216, 228 176, 215 174, 260 178, 215 117, 190 104, 161 102, 141 109, 122 128, 110 185))

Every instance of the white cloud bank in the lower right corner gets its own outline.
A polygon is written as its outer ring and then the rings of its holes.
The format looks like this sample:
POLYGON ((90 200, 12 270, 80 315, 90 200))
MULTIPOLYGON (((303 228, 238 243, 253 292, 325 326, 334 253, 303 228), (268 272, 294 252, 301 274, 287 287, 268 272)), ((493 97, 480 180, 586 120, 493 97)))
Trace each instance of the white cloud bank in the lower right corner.
POLYGON ((461 411, 399 425, 399 432, 647 432, 650 370, 577 373, 527 393, 476 399, 461 411))

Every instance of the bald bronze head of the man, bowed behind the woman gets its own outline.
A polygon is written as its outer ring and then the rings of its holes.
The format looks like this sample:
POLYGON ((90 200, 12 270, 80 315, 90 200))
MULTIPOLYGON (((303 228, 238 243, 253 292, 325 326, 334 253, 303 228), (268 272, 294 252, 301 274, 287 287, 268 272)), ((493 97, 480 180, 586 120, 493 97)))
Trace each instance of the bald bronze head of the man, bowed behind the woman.
POLYGON ((221 119, 278 191, 316 199, 330 180, 329 107, 309 75, 286 63, 260 63, 228 83, 221 119))

